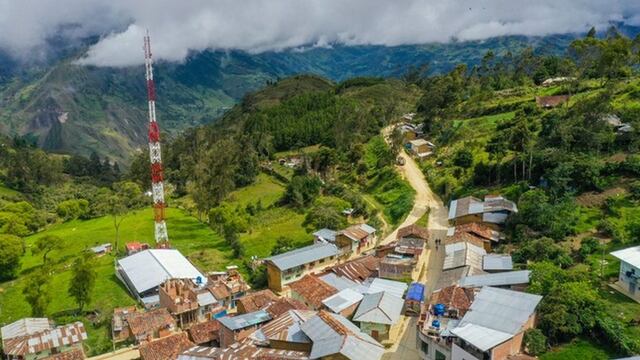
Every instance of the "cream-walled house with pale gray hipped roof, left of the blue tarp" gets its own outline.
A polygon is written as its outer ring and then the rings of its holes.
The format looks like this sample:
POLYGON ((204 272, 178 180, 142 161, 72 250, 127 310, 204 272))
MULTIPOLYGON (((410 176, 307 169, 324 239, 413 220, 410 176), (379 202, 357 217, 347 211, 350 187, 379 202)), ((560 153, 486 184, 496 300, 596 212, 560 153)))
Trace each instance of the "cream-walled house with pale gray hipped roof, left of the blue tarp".
POLYGON ((403 306, 402 298, 391 293, 367 294, 353 315, 353 321, 360 323, 362 332, 384 344, 397 338, 403 306))

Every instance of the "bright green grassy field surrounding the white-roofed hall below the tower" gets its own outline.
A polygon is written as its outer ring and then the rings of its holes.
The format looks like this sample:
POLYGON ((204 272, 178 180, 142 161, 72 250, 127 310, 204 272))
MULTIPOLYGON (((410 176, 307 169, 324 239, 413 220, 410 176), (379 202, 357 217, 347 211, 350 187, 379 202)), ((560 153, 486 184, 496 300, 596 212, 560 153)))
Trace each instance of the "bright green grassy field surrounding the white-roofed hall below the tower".
MULTIPOLYGON (((153 221, 151 209, 140 210, 126 218, 121 226, 121 246, 128 241, 153 243, 153 221)), ((195 218, 176 209, 168 209, 167 223, 172 246, 188 256, 202 270, 219 270, 230 264, 231 250, 224 240, 195 218)), ((28 275, 42 264, 40 256, 31 252, 35 240, 45 235, 58 235, 68 242, 64 250, 54 251, 49 258, 53 264, 50 277, 51 302, 47 315, 60 323, 76 319, 73 313, 76 304, 67 296, 71 278, 69 265, 85 249, 112 242, 114 230, 111 218, 103 217, 87 221, 71 221, 50 227, 46 231, 26 238, 27 252, 22 259, 22 270, 18 279, 0 284, 0 323, 9 323, 30 315, 22 289, 28 275)), ((114 257, 106 255, 96 261, 97 281, 93 299, 87 306, 98 310, 99 318, 110 319, 116 306, 132 305, 134 299, 114 274, 114 257)), ((92 325, 86 317, 79 318, 87 326, 89 340, 87 352, 97 354, 111 347, 108 327, 105 322, 92 325)))

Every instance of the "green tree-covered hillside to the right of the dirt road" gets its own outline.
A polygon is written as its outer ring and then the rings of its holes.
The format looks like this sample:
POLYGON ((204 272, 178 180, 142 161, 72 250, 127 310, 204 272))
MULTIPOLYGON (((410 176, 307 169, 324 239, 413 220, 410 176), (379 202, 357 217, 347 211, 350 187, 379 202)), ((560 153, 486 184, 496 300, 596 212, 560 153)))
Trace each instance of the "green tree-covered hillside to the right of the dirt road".
POLYGON ((640 244, 639 49, 639 37, 592 31, 562 56, 486 54, 417 81, 434 190, 517 202, 499 251, 544 295, 541 331, 525 336, 543 359, 640 351, 640 305, 609 287, 620 263, 608 255, 640 244))

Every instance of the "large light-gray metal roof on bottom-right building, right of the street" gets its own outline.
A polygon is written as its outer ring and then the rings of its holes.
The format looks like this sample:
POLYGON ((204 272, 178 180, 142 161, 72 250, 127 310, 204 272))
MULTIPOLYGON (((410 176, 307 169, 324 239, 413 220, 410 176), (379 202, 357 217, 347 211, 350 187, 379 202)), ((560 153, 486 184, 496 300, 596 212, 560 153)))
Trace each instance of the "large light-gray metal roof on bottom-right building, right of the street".
POLYGON ((485 351, 517 334, 540 300, 540 295, 485 286, 452 333, 485 351))

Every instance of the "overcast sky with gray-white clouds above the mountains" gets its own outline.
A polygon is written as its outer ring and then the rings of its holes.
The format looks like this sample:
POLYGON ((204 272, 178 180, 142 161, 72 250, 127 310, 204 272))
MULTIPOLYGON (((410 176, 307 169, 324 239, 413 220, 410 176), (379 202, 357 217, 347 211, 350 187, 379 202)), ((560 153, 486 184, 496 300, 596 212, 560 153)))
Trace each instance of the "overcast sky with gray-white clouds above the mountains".
POLYGON ((0 0, 0 47, 33 56, 47 37, 100 35, 84 64, 142 62, 190 50, 281 50, 334 43, 401 45, 640 25, 640 0, 0 0))

